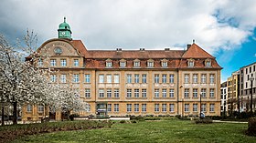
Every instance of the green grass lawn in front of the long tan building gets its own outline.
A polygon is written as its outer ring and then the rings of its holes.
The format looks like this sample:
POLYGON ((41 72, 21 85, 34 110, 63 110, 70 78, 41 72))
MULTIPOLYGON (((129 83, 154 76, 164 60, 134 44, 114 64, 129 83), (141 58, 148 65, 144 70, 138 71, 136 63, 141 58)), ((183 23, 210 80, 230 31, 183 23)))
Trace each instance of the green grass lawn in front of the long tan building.
POLYGON ((53 132, 19 138, 21 142, 256 142, 244 135, 247 124, 213 123, 198 125, 188 120, 115 123, 112 128, 53 132))

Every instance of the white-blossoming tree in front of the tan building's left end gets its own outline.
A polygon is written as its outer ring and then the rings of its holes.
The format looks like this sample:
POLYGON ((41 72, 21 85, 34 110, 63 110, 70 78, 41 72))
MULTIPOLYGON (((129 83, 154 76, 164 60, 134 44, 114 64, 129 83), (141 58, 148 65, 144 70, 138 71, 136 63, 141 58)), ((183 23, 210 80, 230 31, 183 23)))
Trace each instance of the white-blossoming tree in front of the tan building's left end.
POLYGON ((17 105, 41 104, 68 115, 71 111, 85 110, 87 104, 75 96, 72 87, 52 84, 49 75, 53 71, 35 66, 37 36, 27 31, 24 39, 27 47, 22 48, 11 46, 0 36, 0 101, 13 105, 13 123, 17 123, 17 105), (25 62, 26 55, 29 59, 25 62))

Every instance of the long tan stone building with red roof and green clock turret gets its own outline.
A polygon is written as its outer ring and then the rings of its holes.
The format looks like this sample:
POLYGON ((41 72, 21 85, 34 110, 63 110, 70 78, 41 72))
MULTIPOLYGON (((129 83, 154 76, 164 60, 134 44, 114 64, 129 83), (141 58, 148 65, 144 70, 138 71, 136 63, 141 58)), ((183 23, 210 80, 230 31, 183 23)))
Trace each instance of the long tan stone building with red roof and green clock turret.
MULTIPOLYGON (((91 50, 71 38, 65 19, 58 32, 37 49, 37 66, 59 70, 52 82, 71 83, 80 92, 90 105, 80 116, 198 116, 199 107, 206 116, 220 115, 222 67, 197 44, 186 50, 91 50)), ((46 116, 59 120, 61 113, 23 107, 23 120, 46 116)))

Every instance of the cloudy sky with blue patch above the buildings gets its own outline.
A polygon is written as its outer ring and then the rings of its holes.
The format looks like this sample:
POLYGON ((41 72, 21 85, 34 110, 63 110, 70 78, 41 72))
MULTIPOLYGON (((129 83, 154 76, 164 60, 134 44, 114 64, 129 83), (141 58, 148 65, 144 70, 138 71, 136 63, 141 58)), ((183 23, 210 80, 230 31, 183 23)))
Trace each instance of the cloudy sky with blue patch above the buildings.
POLYGON ((256 61, 255 0, 1 0, 0 34, 14 43, 33 30, 40 46, 64 16, 89 50, 185 49, 195 39, 223 67, 221 82, 256 61))

